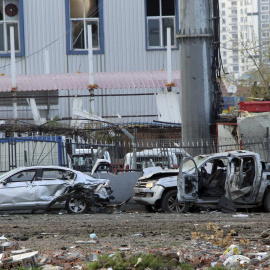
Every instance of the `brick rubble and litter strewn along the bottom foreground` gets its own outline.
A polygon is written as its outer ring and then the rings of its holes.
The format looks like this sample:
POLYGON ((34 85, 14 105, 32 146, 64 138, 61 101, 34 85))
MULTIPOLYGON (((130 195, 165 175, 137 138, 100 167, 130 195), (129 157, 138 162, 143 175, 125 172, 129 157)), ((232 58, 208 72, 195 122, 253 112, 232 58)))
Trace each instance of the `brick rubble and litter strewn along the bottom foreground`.
MULTIPOLYGON (((262 238, 264 239, 264 238, 262 238)), ((192 239, 189 248, 180 249, 158 248, 144 249, 127 248, 100 249, 95 247, 72 246, 57 250, 32 251, 20 247, 18 242, 3 242, 1 244, 0 269, 16 269, 18 267, 32 268, 41 267, 44 270, 69 270, 85 269, 85 265, 97 260, 100 255, 117 253, 124 257, 153 254, 166 257, 168 261, 178 261, 179 265, 185 263, 194 269, 207 269, 208 267, 225 266, 228 269, 269 269, 270 247, 264 245, 249 245, 241 249, 237 245, 231 245, 224 251, 224 247, 213 245, 201 239, 192 239), (114 252, 114 253, 113 253, 114 252)))

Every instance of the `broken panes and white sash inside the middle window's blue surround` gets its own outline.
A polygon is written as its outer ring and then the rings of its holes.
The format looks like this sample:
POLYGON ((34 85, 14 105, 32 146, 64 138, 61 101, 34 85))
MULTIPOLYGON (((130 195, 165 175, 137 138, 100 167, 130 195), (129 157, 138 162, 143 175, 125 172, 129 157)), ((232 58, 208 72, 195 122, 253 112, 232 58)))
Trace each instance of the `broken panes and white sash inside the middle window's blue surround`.
POLYGON ((88 25, 92 26, 92 45, 100 49, 100 12, 101 0, 70 0, 70 45, 71 50, 88 48, 88 25))

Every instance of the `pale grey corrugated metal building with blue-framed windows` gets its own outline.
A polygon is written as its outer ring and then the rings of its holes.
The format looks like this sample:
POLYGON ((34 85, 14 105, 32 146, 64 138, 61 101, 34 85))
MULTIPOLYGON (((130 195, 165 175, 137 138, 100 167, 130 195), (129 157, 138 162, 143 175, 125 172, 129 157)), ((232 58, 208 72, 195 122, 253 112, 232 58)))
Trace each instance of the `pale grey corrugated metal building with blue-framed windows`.
MULTIPOLYGON (((172 70, 179 70, 179 47, 175 39, 178 14, 177 0, 0 0, 0 74, 11 74, 11 26, 15 27, 17 75, 89 72, 86 31, 89 24, 93 32, 95 73, 167 70, 167 27, 172 35, 172 70)), ((12 117, 10 90, 0 93, 2 120, 12 117)), ((42 96, 37 99, 41 116, 69 117, 72 98, 69 102, 50 98, 49 90, 32 93, 42 96)), ((124 122, 152 122, 158 117, 155 96, 150 94, 162 90, 96 89, 95 94, 103 96, 95 98, 95 113, 112 118, 120 114, 124 122), (120 96, 104 96, 112 92, 120 96), (140 93, 136 98, 121 96, 140 93)), ((179 88, 173 91, 179 92, 179 88)), ((59 96, 89 94, 87 89, 56 93, 59 96)), ((21 93, 27 94, 30 95, 21 93)), ((83 99, 84 110, 90 110, 89 103, 88 98, 83 99)), ((21 118, 32 118, 25 98, 18 99, 18 106, 21 118)))

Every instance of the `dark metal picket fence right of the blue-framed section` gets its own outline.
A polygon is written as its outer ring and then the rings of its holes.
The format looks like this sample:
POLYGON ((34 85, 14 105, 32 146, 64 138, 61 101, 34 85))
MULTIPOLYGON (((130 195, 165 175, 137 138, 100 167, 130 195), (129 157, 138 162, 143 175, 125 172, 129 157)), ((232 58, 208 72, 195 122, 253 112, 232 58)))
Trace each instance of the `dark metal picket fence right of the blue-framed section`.
POLYGON ((216 139, 198 140, 182 143, 179 139, 139 141, 136 144, 115 142, 111 144, 92 142, 90 144, 72 144, 69 146, 74 169, 89 171, 97 159, 106 159, 111 163, 114 171, 141 170, 147 167, 161 166, 163 168, 177 168, 183 150, 192 156, 228 152, 233 150, 248 150, 260 153, 264 161, 269 159, 268 139, 228 140, 216 139), (134 147, 136 161, 134 167, 134 147), (72 149, 72 151, 71 151, 72 149), (76 150, 77 149, 77 150, 76 150), (81 149, 80 153, 78 152, 81 149), (77 151, 77 154, 74 154, 77 151))

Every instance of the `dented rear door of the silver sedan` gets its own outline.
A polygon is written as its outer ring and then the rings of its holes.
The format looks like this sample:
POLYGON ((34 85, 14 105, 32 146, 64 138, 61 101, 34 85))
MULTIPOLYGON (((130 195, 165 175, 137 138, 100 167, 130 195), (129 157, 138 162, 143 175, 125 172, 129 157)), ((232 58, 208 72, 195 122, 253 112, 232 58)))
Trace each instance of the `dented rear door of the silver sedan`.
POLYGON ((46 206, 73 184, 76 174, 70 170, 42 169, 33 185, 36 187, 37 206, 46 206))

